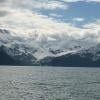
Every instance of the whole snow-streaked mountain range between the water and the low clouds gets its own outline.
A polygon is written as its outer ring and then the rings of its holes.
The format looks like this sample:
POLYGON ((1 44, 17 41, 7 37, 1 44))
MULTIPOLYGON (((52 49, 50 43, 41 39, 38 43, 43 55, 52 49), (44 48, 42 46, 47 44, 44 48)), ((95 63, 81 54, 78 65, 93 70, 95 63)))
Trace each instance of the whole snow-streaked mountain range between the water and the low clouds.
POLYGON ((100 44, 88 48, 75 44, 67 49, 55 49, 51 44, 50 47, 49 45, 42 47, 40 42, 36 42, 32 38, 32 43, 30 43, 30 39, 25 40, 24 38, 12 36, 10 33, 8 30, 0 29, 0 64, 100 66, 100 44))

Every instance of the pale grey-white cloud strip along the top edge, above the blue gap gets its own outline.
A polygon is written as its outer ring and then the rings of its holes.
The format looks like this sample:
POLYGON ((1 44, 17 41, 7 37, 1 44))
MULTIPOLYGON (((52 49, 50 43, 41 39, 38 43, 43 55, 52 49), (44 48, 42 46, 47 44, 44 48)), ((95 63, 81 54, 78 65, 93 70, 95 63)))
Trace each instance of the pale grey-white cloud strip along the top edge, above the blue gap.
POLYGON ((13 7, 23 7, 24 9, 47 9, 47 10, 55 10, 55 9, 68 9, 68 6, 63 2, 56 0, 9 0, 9 3, 13 7))

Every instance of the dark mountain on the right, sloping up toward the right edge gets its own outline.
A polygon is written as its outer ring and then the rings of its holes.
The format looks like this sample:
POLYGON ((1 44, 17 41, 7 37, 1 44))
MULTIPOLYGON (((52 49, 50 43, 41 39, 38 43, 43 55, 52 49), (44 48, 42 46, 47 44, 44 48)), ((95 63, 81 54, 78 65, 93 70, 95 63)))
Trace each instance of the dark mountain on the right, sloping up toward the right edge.
POLYGON ((49 66, 100 67, 100 44, 58 57, 47 57, 41 63, 49 66))

